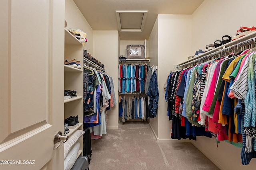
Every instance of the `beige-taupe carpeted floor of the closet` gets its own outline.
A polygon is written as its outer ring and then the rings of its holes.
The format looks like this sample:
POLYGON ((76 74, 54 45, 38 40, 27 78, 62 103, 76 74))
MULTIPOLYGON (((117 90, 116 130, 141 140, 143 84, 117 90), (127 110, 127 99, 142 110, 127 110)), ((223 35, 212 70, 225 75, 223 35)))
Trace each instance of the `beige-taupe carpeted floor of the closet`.
POLYGON ((147 122, 120 123, 92 140, 90 170, 219 170, 190 142, 158 143, 147 122))

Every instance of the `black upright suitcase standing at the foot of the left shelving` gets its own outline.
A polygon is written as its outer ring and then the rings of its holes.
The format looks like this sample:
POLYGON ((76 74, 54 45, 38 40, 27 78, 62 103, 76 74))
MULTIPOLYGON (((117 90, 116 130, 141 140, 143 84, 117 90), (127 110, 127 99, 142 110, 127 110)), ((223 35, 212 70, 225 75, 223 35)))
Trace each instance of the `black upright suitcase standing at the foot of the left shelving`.
POLYGON ((86 127, 84 129, 84 156, 89 158, 89 164, 92 157, 92 145, 91 145, 91 133, 90 129, 86 127))

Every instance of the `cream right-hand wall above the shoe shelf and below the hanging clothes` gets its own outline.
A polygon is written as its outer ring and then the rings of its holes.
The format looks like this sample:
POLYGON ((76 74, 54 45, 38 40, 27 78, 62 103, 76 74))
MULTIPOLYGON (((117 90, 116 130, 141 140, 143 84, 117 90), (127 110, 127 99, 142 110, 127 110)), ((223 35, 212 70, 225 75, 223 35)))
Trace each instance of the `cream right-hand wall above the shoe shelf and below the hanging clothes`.
MULTIPOLYGON (((205 49, 205 45, 220 40, 223 35, 236 35, 241 26, 255 24, 255 0, 204 0, 192 14, 192 52, 205 49)), ((247 166, 242 166, 240 151, 224 141, 216 147, 216 139, 197 137, 192 141, 198 149, 208 156, 219 168, 225 170, 255 169, 256 158, 247 166)))

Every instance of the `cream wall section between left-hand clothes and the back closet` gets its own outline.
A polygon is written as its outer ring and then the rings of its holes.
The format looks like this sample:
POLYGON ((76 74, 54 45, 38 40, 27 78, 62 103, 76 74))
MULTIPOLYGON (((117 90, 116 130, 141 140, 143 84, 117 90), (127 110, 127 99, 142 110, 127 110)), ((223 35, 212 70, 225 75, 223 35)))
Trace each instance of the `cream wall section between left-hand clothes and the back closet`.
POLYGON ((114 81, 116 106, 107 111, 108 129, 118 128, 118 31, 93 31, 94 57, 104 64, 114 81))

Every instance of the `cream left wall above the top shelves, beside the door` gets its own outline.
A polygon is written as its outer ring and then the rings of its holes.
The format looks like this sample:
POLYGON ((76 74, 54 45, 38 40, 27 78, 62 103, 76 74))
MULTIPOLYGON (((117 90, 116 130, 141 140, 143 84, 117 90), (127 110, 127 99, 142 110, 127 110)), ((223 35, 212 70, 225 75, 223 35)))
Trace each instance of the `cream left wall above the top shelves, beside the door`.
MULTIPOLYGON (((93 56, 93 31, 73 0, 65 0, 65 20, 67 28, 80 29, 87 34, 84 49, 93 56)), ((63 21, 64 23, 64 21, 63 21)))

